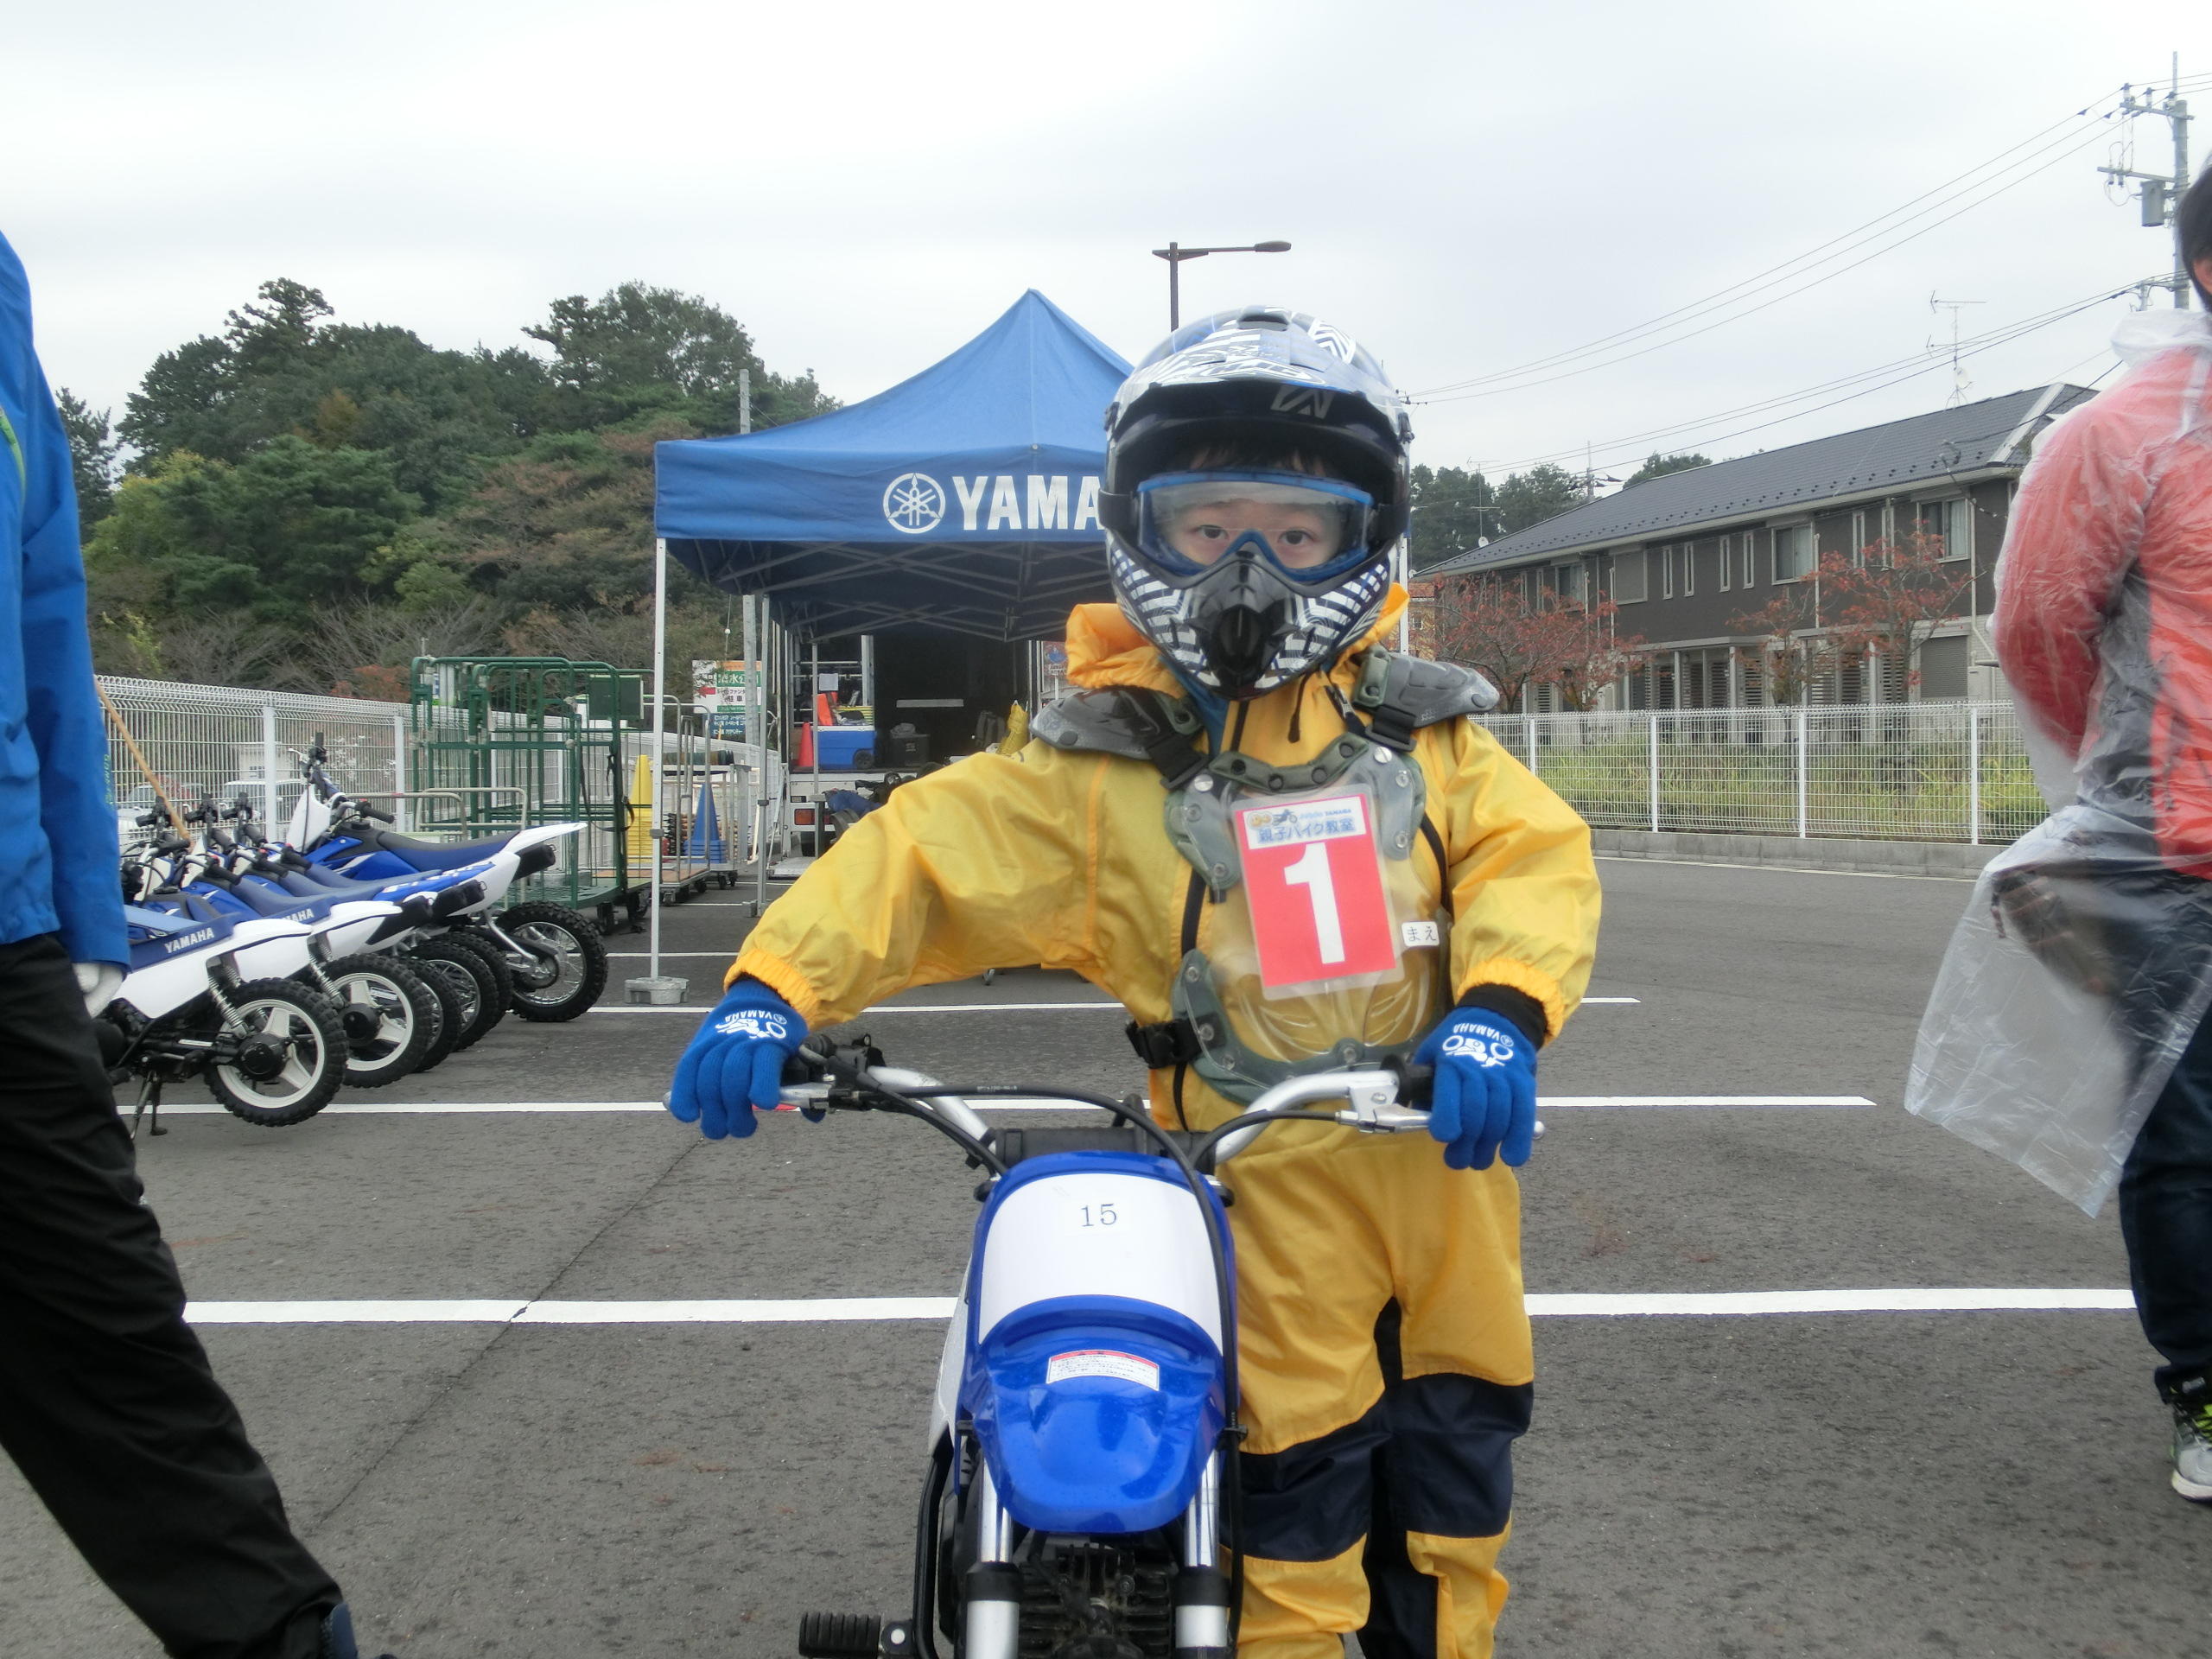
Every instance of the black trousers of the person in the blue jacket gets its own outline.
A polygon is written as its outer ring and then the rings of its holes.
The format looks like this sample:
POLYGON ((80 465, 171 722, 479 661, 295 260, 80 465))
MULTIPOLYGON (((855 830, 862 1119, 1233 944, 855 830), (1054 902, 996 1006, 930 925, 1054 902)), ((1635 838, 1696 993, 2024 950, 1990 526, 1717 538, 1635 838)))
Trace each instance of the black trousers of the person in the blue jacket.
POLYGON ((177 1659, 314 1659, 338 1586, 184 1323, 84 998, 0 945, 0 1447, 177 1659))

